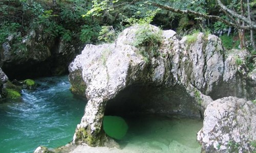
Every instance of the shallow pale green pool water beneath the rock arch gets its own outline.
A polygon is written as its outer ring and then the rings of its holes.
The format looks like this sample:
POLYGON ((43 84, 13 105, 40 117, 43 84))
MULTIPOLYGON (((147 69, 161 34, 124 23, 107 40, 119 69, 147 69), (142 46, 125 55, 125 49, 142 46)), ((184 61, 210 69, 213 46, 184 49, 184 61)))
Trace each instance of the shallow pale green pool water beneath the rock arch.
POLYGON ((124 152, 201 152, 196 139, 202 119, 140 116, 126 118, 126 122, 129 130, 119 141, 124 152))

